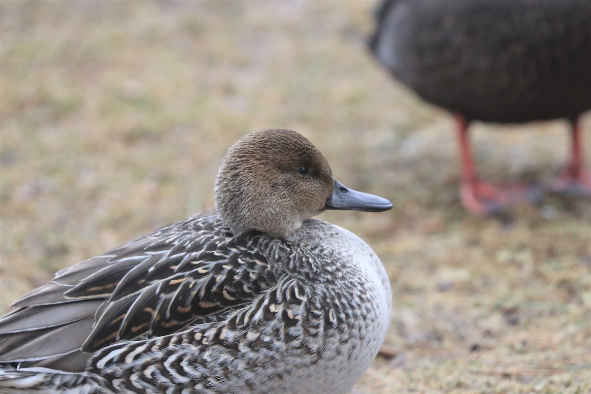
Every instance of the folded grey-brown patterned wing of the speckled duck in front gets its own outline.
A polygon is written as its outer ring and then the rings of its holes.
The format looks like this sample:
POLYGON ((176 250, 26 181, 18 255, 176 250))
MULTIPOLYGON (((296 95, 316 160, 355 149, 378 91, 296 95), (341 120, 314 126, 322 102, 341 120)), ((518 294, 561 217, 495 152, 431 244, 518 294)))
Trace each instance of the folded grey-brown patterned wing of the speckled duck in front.
POLYGON ((217 216, 187 219, 63 269, 0 318, 0 362, 79 372, 116 341, 225 318, 277 282, 256 248, 268 237, 228 233, 217 216))

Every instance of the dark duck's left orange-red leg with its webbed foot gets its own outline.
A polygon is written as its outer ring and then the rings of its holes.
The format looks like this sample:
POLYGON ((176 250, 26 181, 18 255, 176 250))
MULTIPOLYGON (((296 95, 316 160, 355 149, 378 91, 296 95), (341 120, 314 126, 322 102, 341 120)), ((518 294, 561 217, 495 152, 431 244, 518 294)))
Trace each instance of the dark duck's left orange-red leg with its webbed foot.
POLYGON ((457 138, 460 147, 460 200, 470 212, 479 215, 499 213, 519 201, 535 203, 541 198, 538 188, 527 184, 494 185, 480 181, 468 141, 467 122, 456 115, 457 138))

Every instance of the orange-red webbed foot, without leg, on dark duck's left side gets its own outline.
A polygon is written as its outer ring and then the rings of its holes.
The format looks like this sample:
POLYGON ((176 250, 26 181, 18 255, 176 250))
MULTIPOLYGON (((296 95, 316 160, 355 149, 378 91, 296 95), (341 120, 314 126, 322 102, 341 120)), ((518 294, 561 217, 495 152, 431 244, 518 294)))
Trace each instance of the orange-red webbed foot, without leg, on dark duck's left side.
POLYGON ((542 200, 542 193, 539 187, 531 184, 494 185, 479 180, 463 181, 460 200, 471 213, 488 216, 521 202, 537 204, 542 200))

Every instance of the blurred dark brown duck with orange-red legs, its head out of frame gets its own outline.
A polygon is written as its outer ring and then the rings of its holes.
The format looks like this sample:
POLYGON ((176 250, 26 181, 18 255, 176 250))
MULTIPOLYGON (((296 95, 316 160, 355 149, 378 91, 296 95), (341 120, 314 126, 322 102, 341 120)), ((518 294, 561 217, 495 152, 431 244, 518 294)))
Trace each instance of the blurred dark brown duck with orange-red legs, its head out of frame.
POLYGON ((379 62, 456 115, 460 197, 469 211, 494 213, 540 197, 531 185, 478 179, 471 121, 569 119, 571 158, 550 189, 591 196, 578 121, 591 109, 589 0, 388 0, 377 16, 370 46, 379 62))

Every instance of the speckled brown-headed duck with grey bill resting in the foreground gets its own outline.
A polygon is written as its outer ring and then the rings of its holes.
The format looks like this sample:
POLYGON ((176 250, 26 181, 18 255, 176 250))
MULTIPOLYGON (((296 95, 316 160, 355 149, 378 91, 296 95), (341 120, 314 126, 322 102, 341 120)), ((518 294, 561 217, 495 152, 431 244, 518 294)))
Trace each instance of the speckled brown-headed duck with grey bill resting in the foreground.
POLYGON ((217 214, 59 271, 0 318, 0 392, 344 393, 384 340, 387 275, 326 209, 384 211, 289 130, 244 136, 217 214))

